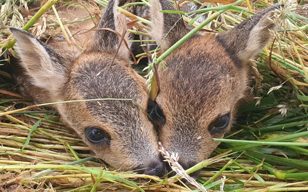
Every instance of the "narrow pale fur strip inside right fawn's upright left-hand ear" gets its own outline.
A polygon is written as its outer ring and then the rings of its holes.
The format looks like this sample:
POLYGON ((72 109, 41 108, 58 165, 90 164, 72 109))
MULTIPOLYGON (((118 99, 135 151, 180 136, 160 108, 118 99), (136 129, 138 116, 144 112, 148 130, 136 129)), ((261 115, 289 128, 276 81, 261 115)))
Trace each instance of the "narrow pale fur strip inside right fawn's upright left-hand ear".
POLYGON ((150 18, 152 22, 150 35, 158 44, 161 44, 164 38, 164 14, 161 13, 161 5, 158 0, 150 0, 152 8, 150 9, 150 18))

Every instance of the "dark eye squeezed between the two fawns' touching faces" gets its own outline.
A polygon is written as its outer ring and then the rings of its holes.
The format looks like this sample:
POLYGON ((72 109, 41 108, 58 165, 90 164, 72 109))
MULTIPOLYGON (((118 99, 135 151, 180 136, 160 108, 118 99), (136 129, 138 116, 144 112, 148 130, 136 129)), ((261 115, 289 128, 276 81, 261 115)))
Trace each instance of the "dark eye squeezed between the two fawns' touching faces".
POLYGON ((149 120, 158 127, 164 126, 166 118, 160 106, 152 100, 148 100, 147 113, 151 117, 149 120))

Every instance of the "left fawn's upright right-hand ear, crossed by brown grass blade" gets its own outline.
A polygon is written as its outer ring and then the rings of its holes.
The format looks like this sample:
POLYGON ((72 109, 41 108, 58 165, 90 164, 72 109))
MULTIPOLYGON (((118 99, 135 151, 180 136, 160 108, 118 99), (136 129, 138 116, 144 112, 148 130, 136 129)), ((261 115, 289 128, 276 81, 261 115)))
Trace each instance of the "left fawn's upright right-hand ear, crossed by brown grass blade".
MULTIPOLYGON (((125 16, 123 14, 119 14, 116 11, 117 5, 118 5, 117 0, 109 0, 107 7, 105 8, 102 14, 102 18, 99 22, 97 29, 110 28, 120 33, 120 35, 123 34, 124 30, 127 31, 125 16)), ((129 38, 130 38, 129 33, 126 33, 124 39, 127 41, 129 40, 129 38)), ((114 54, 118 49, 120 39, 121 38, 112 31, 105 29, 97 30, 95 31, 90 51, 99 51, 99 52, 114 54)), ((129 42, 128 46, 130 47, 129 42)), ((117 56, 123 59, 130 58, 130 53, 123 41, 120 45, 120 49, 119 52, 117 53, 117 56)))

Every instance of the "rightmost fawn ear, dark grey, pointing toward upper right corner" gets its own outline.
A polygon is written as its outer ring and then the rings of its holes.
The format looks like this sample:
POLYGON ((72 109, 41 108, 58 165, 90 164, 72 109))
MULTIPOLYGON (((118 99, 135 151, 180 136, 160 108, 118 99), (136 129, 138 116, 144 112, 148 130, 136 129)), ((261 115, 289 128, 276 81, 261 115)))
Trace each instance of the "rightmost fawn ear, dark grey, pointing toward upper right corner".
POLYGON ((259 53, 270 41, 269 29, 275 29, 275 24, 268 18, 272 11, 283 6, 282 3, 274 4, 226 33, 216 35, 216 40, 225 48, 233 61, 242 65, 259 53))

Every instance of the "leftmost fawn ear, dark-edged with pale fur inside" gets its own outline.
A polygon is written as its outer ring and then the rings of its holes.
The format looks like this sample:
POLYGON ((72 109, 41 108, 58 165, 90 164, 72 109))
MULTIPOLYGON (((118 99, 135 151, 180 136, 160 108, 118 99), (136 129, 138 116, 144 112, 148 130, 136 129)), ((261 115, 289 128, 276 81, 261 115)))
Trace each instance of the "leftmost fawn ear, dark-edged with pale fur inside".
POLYGON ((58 90, 67 78, 68 69, 65 63, 69 58, 31 33, 15 27, 10 27, 10 31, 17 42, 15 46, 20 64, 25 73, 33 78, 31 82, 49 91, 58 90))

